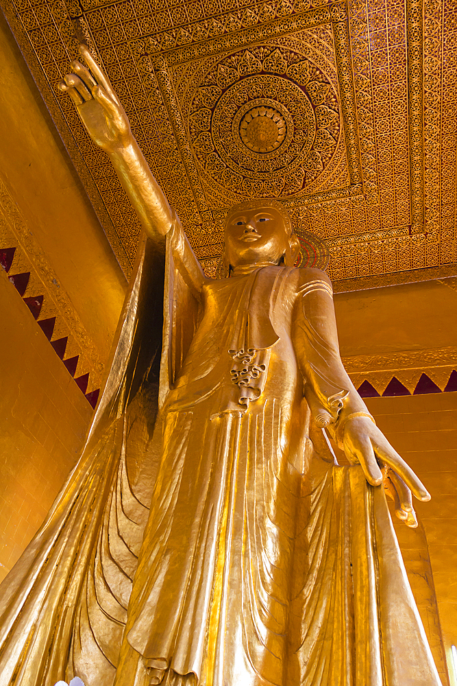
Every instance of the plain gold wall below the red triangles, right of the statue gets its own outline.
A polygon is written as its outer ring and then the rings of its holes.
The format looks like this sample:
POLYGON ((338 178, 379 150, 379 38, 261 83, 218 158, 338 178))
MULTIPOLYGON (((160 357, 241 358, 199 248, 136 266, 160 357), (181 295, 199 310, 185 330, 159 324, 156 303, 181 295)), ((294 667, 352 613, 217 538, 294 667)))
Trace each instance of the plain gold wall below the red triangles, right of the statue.
POLYGON ((432 495, 428 503, 415 501, 418 530, 401 523, 395 528, 436 665, 446 683, 437 641, 441 625, 449 676, 456 686, 450 647, 457 644, 457 393, 371 398, 367 405, 380 429, 432 495), (428 554, 432 578, 427 571, 428 554))

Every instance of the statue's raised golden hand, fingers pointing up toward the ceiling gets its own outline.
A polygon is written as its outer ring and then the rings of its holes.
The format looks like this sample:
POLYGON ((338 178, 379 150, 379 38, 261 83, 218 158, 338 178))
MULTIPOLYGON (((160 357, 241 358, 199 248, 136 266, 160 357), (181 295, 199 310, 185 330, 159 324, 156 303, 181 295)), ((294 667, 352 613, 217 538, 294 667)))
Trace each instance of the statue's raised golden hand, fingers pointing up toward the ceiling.
POLYGON ((133 141, 124 108, 86 45, 79 45, 81 62, 71 63, 73 73, 58 84, 73 100, 90 138, 106 152, 116 152, 133 141))

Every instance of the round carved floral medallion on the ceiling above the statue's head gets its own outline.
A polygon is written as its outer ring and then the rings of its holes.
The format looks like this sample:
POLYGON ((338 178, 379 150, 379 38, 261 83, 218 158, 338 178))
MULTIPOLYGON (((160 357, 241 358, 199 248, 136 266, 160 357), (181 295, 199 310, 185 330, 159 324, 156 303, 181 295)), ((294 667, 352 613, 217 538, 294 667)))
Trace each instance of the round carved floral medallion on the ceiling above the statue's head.
POLYGON ((341 134, 332 82, 271 45, 212 64, 195 83, 189 138, 200 171, 240 196, 295 196, 334 167, 341 134))

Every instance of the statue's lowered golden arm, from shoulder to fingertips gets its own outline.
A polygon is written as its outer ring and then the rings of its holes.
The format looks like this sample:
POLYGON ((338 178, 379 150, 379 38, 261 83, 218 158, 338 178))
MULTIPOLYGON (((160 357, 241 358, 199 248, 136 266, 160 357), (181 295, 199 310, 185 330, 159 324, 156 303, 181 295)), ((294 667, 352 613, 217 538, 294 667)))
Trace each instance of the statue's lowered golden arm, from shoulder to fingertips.
POLYGON ((303 276, 294 311, 293 342, 314 421, 325 427, 349 462, 360 462, 367 481, 384 487, 397 517, 417 526, 411 492, 429 500, 415 473, 375 425, 341 362, 332 284, 321 270, 303 276))

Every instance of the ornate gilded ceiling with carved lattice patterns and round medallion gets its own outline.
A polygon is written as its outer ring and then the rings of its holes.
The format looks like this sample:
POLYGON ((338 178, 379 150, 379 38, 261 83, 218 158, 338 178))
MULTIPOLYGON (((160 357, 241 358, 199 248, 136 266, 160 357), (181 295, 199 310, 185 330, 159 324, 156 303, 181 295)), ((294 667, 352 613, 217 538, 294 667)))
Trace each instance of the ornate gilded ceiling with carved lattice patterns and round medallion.
POLYGON ((336 290, 456 273, 455 2, 1 2, 127 274, 138 221, 56 87, 76 34, 208 274, 227 207, 260 197, 325 241, 336 290))

